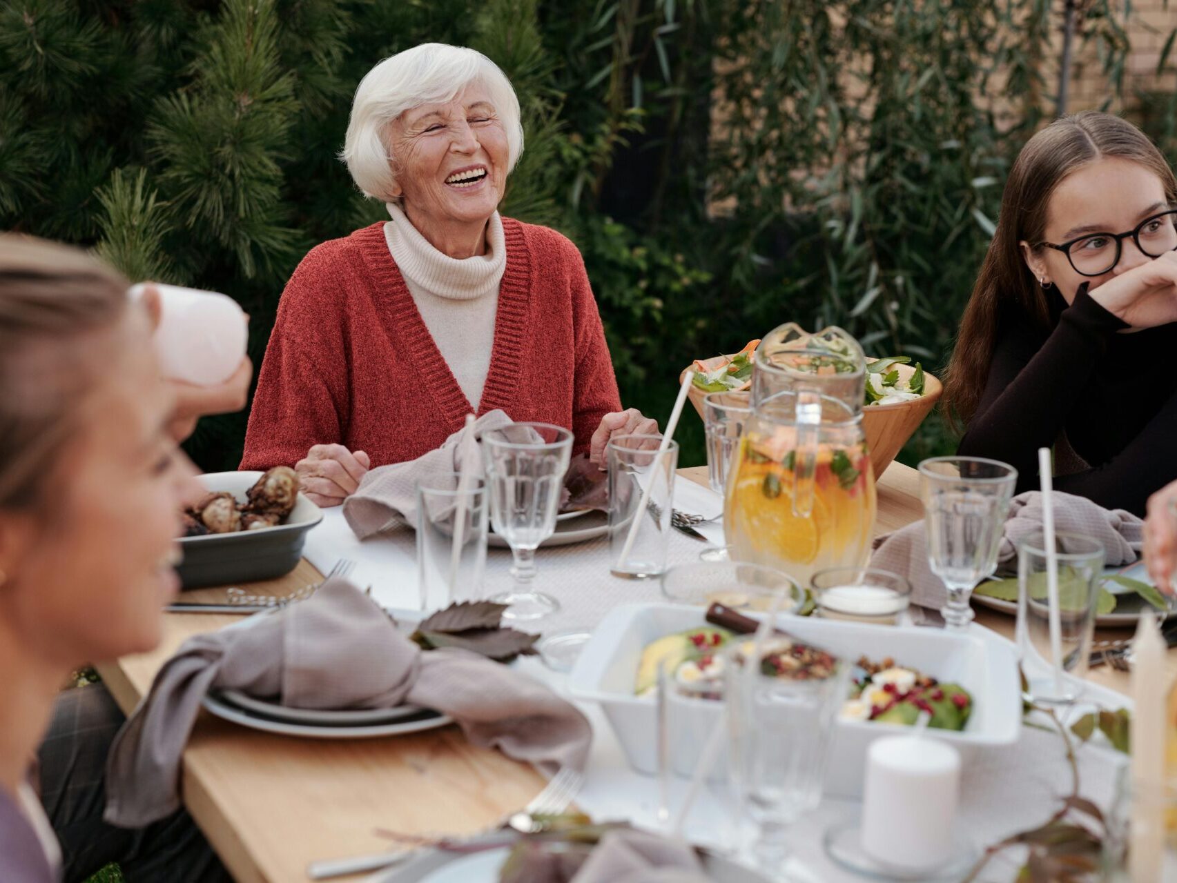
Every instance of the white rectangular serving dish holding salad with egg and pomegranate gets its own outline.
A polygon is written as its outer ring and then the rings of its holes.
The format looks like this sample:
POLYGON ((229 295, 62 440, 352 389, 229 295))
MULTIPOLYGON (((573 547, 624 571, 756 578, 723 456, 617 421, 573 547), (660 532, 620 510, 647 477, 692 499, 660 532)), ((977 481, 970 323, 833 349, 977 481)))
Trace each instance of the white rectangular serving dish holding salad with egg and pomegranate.
MULTIPOLYGON (((568 676, 568 689, 579 700, 600 704, 630 765, 647 775, 658 771, 654 751, 657 707, 653 696, 633 695, 633 680, 643 649, 664 635, 704 624, 704 609, 670 603, 626 604, 614 608, 593 630, 568 676)), ((959 683, 973 698, 965 729, 929 730, 960 751, 969 763, 977 751, 1013 744, 1022 733, 1022 695, 1017 650, 997 635, 975 630, 952 635, 929 628, 866 626, 814 617, 789 617, 783 628, 850 662, 892 657, 896 664, 918 669, 939 681, 959 683)), ((698 716, 699 748, 722 704, 698 716)), ((693 727, 692 727, 693 729, 693 727)), ((830 748, 825 792, 860 797, 866 749, 880 736, 910 733, 899 724, 838 721, 830 748)), ((684 770, 680 770, 684 771, 684 770)))

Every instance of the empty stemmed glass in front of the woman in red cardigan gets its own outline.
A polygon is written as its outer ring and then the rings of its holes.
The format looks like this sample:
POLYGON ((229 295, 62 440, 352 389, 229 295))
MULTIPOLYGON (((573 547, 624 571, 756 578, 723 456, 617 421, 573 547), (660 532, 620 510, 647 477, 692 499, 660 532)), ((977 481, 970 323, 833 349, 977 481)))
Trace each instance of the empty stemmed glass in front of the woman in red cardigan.
POLYGON ((572 433, 551 423, 513 423, 483 433, 491 488, 491 523, 514 556, 511 591, 492 601, 508 604, 507 620, 538 620, 559 602, 532 588, 536 549, 556 530, 556 510, 572 455, 572 433))

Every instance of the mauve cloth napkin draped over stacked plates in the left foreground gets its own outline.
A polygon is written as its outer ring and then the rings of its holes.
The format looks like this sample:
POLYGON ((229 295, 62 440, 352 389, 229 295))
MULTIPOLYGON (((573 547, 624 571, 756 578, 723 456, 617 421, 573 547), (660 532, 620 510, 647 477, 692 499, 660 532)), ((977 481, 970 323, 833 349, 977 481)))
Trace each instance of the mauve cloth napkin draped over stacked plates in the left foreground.
POLYGON ((195 635, 155 675, 114 738, 105 818, 139 828, 180 805, 180 758, 210 689, 280 696, 293 708, 424 705, 451 715, 478 745, 554 771, 584 769, 585 717, 547 687, 464 650, 427 653, 344 580, 247 628, 195 635))

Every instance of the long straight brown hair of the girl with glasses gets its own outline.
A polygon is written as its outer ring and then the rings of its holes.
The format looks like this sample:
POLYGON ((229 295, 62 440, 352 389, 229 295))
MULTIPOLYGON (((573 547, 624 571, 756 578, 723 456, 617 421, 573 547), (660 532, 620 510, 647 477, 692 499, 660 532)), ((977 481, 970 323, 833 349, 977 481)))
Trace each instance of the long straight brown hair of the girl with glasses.
POLYGON ((1011 315, 1050 330, 1046 292, 1022 256, 1022 241, 1040 242, 1050 196, 1064 178, 1091 160, 1118 156, 1148 168, 1177 202, 1177 179, 1165 158, 1136 126, 1111 114, 1088 111, 1062 116, 1031 138, 1018 154, 1002 193, 993 241, 965 307, 940 403, 959 429, 977 410, 989 377, 997 327, 1011 315))

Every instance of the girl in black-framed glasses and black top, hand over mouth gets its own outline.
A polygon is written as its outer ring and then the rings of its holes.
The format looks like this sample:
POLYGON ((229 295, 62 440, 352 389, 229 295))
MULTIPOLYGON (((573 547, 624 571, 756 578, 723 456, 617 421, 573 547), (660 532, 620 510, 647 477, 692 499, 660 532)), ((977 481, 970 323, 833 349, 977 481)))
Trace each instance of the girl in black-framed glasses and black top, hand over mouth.
POLYGON ((1143 515, 1177 479, 1177 181, 1130 122, 1064 116, 1026 142, 945 377, 959 454, 1143 515))

